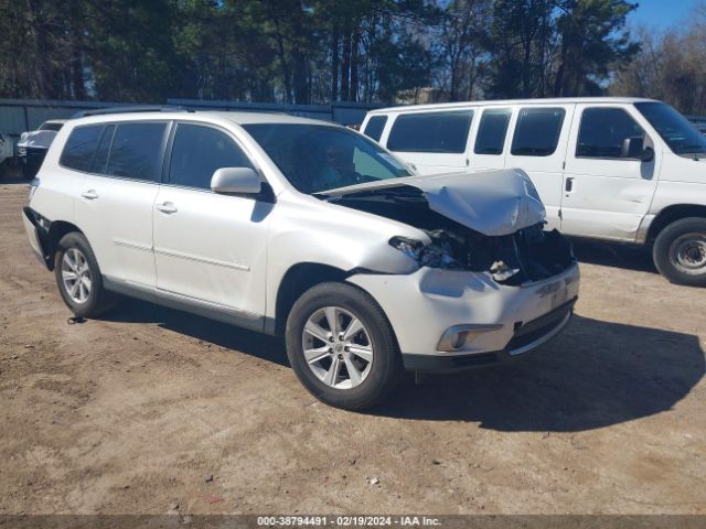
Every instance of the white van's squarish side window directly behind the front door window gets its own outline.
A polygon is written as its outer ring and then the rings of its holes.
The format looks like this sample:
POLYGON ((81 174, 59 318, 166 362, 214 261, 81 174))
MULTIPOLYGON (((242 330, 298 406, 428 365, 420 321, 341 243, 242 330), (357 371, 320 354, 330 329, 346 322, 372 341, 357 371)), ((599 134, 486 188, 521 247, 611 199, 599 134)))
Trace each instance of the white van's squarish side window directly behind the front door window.
POLYGON ((566 111, 563 108, 523 108, 512 140, 515 156, 550 156, 556 151, 566 111))

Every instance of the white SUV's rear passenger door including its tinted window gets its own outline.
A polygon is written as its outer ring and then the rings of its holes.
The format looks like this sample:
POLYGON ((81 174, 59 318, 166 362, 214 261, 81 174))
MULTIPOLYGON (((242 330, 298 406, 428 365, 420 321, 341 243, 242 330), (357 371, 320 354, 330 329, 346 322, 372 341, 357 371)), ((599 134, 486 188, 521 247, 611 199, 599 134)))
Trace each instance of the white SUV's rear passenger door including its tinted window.
POLYGON ((104 128, 76 219, 108 279, 154 288, 152 207, 167 144, 167 121, 104 128))

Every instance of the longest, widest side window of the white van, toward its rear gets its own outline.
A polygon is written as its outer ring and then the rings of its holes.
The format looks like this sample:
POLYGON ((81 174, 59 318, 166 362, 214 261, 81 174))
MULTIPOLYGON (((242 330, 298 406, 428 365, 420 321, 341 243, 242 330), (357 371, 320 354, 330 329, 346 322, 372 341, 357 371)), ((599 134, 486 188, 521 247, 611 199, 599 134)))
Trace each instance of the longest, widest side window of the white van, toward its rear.
POLYGON ((387 149, 398 152, 466 152, 472 110, 398 116, 387 140, 387 149))

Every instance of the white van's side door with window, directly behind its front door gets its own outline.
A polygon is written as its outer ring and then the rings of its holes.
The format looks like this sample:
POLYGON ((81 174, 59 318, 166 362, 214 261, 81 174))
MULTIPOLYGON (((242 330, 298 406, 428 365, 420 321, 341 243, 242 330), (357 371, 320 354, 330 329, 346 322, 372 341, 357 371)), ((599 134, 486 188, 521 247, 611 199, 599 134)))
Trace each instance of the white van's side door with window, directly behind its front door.
POLYGON ((505 158, 506 168, 520 168, 532 179, 552 228, 560 227, 564 160, 574 106, 521 106, 505 158))

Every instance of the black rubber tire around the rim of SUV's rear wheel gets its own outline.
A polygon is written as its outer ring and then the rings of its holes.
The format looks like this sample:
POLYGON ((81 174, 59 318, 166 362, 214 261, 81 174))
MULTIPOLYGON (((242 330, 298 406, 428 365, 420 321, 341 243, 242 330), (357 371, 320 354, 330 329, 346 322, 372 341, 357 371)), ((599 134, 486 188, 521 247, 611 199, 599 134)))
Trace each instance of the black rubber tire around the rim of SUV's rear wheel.
POLYGON ((78 231, 66 234, 58 241, 56 253, 54 255, 54 276, 64 303, 66 303, 77 317, 97 317, 115 305, 116 295, 103 287, 103 277, 100 276, 96 257, 86 237, 78 231), (85 258, 85 264, 87 266, 90 280, 89 292, 83 302, 77 302, 72 298, 63 279, 64 256, 74 249, 78 250, 81 256, 85 258))

